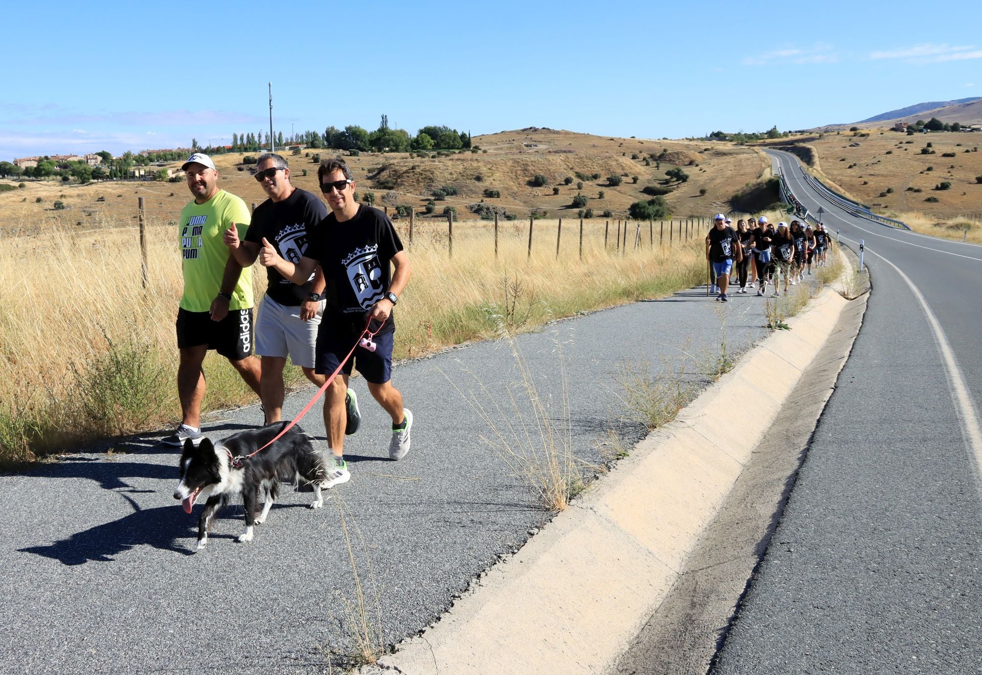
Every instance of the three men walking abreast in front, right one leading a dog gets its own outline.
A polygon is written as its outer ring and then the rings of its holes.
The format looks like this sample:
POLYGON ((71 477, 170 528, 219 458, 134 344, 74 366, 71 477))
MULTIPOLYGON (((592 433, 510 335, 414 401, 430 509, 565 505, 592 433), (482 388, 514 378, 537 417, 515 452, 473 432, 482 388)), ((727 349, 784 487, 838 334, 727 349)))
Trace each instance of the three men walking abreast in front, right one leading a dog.
MULTIPOLYGON (((264 423, 280 420, 287 358, 325 391, 324 426, 331 459, 322 487, 351 477, 343 456, 346 435, 360 422, 353 366, 392 417, 391 459, 409 451, 412 413, 392 386, 393 307, 409 282, 403 243, 382 211, 355 201, 349 166, 324 160, 317 170, 324 203, 290 182, 282 156, 260 155, 255 180, 269 199, 251 215, 241 197, 218 186, 211 158, 194 153, 182 169, 193 199, 181 212, 184 293, 177 317, 178 395, 182 422, 171 445, 201 440, 204 357, 215 349, 263 404, 264 423), (253 355, 252 273, 266 268, 268 286, 256 318, 253 355), (360 339, 365 330, 370 339, 360 339)), ((326 457, 325 457, 326 459, 326 457)))

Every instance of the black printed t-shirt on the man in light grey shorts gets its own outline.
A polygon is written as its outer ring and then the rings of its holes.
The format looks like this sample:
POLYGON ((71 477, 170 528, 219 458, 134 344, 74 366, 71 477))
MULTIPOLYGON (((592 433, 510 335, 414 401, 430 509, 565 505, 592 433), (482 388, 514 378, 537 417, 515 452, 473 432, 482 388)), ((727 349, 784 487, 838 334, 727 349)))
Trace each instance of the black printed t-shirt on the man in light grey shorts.
MULTIPOLYGON (((266 201, 255 207, 246 241, 261 244, 263 237, 276 247, 284 260, 296 264, 306 255, 309 233, 327 216, 324 202, 297 188, 283 201, 266 201)), ((313 275, 310 276, 313 279, 313 275)), ((310 292, 310 279, 297 286, 272 267, 266 268, 266 294, 281 305, 299 305, 310 292)))

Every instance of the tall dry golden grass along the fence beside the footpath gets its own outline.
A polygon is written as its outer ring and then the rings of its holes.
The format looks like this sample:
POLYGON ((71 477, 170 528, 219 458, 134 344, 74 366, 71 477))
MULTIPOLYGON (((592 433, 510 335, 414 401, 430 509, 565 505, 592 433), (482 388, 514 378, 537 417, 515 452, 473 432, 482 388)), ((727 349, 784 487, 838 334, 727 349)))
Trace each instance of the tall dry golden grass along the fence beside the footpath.
MULTIPOLYGON (((586 221, 580 261, 578 221, 567 221, 557 260, 557 223, 536 221, 528 258, 527 221, 510 222, 501 225, 495 259, 491 223, 457 224, 453 257, 445 222, 417 225, 409 247, 413 278, 397 311, 397 358, 496 337, 502 318, 527 329, 664 295, 704 274, 698 237, 682 245, 677 238, 671 251, 667 237, 664 249, 642 237, 634 249, 632 226, 627 251, 619 253, 614 230, 605 250, 604 222, 586 221)), ((407 226, 400 222, 404 237, 407 226)), ((146 289, 132 225, 79 232, 55 220, 38 228, 5 237, 0 253, 0 302, 7 308, 0 315, 0 456, 26 459, 173 423, 182 287, 176 225, 149 219, 146 289)), ((258 300, 265 274, 258 267, 251 273, 258 300)), ((224 359, 209 355, 205 370, 206 408, 254 401, 224 359)))

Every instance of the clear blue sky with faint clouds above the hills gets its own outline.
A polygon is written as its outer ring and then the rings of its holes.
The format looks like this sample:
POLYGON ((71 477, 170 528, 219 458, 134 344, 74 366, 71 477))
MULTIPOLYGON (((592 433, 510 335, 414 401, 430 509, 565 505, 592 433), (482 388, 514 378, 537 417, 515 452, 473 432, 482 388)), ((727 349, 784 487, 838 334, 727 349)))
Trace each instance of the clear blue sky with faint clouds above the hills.
POLYGON ((373 130, 383 113, 413 134, 676 138, 853 122, 982 96, 972 7, 16 3, 4 8, 0 159, 231 142, 268 129, 268 81, 285 133, 373 130))

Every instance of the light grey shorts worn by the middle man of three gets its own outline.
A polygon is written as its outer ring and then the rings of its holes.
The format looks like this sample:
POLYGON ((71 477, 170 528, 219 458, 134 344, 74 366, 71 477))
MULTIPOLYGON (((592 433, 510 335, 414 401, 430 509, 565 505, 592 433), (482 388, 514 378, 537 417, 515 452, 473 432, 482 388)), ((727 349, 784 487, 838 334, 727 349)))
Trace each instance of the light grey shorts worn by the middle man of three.
POLYGON ((309 321, 301 321, 300 305, 281 305, 264 295, 255 319, 255 353, 283 358, 289 355, 294 365, 313 368, 317 328, 325 304, 321 300, 317 314, 309 321))

